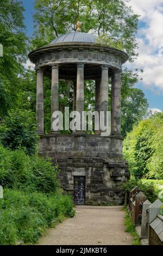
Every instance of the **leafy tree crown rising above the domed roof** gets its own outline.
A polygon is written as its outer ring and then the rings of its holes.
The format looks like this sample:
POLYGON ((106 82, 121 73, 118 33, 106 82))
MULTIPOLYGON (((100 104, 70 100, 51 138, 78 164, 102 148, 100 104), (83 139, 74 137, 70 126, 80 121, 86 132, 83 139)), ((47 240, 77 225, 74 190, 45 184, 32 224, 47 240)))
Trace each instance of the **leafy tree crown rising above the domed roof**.
POLYGON ((130 59, 136 57, 138 15, 122 0, 36 0, 33 48, 48 44, 61 34, 75 31, 77 21, 82 31, 97 34, 110 44, 121 44, 130 59), (108 42, 108 41, 107 41, 108 42))

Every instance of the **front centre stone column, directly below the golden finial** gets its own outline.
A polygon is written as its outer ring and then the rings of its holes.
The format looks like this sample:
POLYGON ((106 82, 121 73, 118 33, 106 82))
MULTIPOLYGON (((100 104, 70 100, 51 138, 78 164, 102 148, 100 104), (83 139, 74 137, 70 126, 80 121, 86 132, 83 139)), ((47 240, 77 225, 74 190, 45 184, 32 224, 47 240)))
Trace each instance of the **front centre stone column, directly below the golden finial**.
POLYGON ((82 111, 84 111, 84 63, 77 64, 77 99, 76 111, 80 113, 82 132, 82 111))

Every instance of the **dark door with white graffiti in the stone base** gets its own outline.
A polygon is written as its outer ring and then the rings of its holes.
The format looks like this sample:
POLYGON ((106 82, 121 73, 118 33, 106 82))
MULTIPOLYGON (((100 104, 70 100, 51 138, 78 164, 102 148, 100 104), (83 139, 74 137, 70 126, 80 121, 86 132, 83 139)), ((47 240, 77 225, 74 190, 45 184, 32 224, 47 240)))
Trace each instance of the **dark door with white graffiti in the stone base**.
POLYGON ((85 204, 85 176, 74 176, 74 204, 85 204))

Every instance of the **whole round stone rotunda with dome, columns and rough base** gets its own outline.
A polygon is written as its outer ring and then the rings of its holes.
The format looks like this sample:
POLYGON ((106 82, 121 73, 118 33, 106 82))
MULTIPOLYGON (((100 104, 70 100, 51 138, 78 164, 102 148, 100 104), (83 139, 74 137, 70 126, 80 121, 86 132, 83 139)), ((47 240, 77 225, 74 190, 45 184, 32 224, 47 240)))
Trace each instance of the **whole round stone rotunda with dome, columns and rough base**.
POLYGON ((97 36, 80 31, 59 36, 51 44, 29 53, 37 74, 36 121, 40 135, 39 155, 52 158, 60 167, 62 187, 75 204, 122 204, 122 182, 129 178, 123 160, 121 136, 121 66, 128 55, 116 48, 98 44, 97 36), (97 42, 96 42, 97 41, 97 42), (43 76, 52 80, 51 133, 43 127, 43 76), (85 132, 60 134, 53 131, 52 114, 59 111, 59 80, 73 82, 73 110, 84 111, 84 80, 95 80, 95 110, 109 109, 111 78, 111 134, 85 132))

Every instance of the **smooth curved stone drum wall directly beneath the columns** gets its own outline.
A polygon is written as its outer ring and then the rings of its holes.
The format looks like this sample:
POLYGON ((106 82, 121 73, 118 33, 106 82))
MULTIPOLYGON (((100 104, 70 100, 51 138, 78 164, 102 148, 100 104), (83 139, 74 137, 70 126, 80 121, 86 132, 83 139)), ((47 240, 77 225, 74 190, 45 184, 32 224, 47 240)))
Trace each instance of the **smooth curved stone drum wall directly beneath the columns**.
MULTIPOLYGON (((44 135, 41 136, 39 142, 39 154, 45 156, 55 157, 56 159, 65 157, 76 157, 77 159, 82 157, 87 157, 89 163, 88 166, 96 164, 97 167, 102 166, 102 162, 97 161, 92 163, 90 160, 92 157, 97 157, 98 159, 105 159, 108 161, 108 166, 111 168, 125 168, 126 162, 121 161, 122 158, 122 139, 116 137, 102 137, 97 135, 44 135), (115 141, 114 145, 110 145, 112 141, 115 141), (94 147, 90 143, 92 141, 101 142, 107 146, 107 148, 94 147), (118 148, 116 144, 118 143, 118 148), (115 154, 116 153, 116 154, 115 154), (113 159, 115 158, 117 159, 113 159), (90 159, 89 159, 90 157, 90 159), (107 160, 110 158, 109 160, 107 160), (113 159, 113 160, 112 160, 113 159)), ((94 166, 94 165, 93 165, 94 166)))

